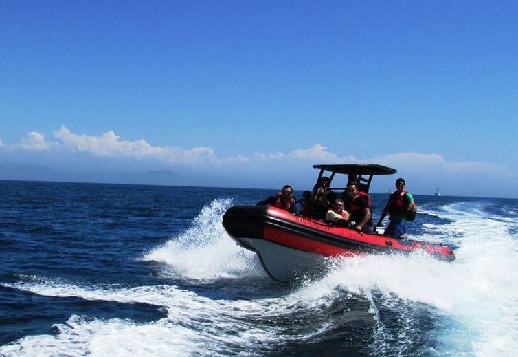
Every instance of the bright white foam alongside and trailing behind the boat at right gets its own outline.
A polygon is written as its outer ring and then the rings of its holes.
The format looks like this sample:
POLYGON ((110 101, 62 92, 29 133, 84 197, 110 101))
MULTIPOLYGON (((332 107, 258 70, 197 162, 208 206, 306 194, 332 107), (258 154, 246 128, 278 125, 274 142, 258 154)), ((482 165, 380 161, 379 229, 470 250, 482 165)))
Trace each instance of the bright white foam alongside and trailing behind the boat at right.
POLYGON ((509 231, 518 221, 488 217, 480 207, 464 204, 462 210, 449 205, 435 214, 451 220, 442 230, 460 244, 453 263, 420 254, 337 259, 332 272, 308 283, 300 294, 324 303, 343 289, 365 296, 375 290, 387 299, 395 294, 453 316, 470 332, 464 338, 472 339, 478 356, 514 354, 518 349, 518 239, 509 231))

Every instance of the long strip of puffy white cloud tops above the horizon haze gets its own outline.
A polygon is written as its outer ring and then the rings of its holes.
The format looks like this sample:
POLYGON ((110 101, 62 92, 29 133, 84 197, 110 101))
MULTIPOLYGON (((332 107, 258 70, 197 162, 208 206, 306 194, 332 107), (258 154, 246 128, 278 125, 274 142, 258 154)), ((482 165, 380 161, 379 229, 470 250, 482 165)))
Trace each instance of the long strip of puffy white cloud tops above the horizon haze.
MULTIPOLYGON (((232 155, 220 158, 209 147, 194 147, 181 149, 179 147, 153 146, 144 139, 128 141, 121 140, 113 131, 107 131, 100 136, 88 136, 72 133, 65 125, 54 131, 54 137, 60 140, 63 147, 74 151, 87 152, 99 157, 110 158, 154 158, 168 164, 190 164, 192 166, 210 164, 223 168, 240 166, 246 170, 271 170, 274 167, 282 169, 294 169, 309 167, 311 164, 336 164, 336 163, 371 163, 391 166, 402 173, 419 173, 421 175, 460 175, 477 174, 481 171, 508 172, 504 166, 487 162, 450 162, 442 155, 435 153, 392 153, 376 155, 374 158, 354 158, 348 155, 339 155, 328 151, 322 144, 314 144, 307 149, 295 149, 287 153, 277 151, 275 153, 255 153, 251 157, 245 155, 232 155), (280 164, 282 163, 282 166, 280 164), (273 166, 272 166, 273 165, 273 166)), ((22 140, 24 148, 49 149, 39 133, 30 133, 29 139, 22 140)), ((510 173, 509 173, 510 174, 510 173)))

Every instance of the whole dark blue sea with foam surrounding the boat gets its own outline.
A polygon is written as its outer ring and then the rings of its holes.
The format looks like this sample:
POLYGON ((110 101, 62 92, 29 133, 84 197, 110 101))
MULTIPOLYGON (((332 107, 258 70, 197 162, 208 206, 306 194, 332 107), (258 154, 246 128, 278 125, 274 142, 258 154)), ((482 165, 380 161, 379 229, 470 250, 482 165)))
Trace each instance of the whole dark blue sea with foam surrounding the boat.
POLYGON ((516 355, 518 200, 416 195, 409 235, 456 261, 282 285, 221 226, 271 193, 0 181, 0 356, 516 355))

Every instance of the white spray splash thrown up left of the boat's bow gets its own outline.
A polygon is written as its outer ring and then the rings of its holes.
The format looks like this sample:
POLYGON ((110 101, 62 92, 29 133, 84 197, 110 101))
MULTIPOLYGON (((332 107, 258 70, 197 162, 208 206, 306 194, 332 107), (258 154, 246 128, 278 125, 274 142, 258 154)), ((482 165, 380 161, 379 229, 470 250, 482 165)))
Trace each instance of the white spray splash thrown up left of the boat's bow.
POLYGON ((257 255, 236 246, 221 224, 231 204, 230 199, 210 202, 188 230, 143 259, 167 263, 165 274, 188 279, 265 276, 257 255))

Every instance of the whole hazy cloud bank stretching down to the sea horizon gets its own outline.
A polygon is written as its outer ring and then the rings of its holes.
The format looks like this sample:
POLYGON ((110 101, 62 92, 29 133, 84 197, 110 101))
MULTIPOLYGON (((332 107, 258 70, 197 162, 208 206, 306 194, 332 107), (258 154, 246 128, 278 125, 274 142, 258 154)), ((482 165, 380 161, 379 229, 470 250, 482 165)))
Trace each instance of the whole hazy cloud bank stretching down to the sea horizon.
MULTIPOLYGON (((355 158, 352 155, 339 156, 331 153, 320 143, 307 149, 295 149, 286 153, 254 153, 253 155, 219 156, 210 147, 193 147, 182 149, 172 146, 154 146, 144 139, 128 141, 122 140, 114 131, 106 131, 98 136, 73 133, 62 125, 52 134, 53 139, 47 140, 42 133, 32 131, 20 142, 6 144, 0 140, 0 153, 4 160, 10 160, 16 153, 16 158, 24 158, 23 153, 31 153, 31 164, 41 164, 45 158, 59 153, 60 160, 75 160, 89 158, 89 163, 82 166, 87 175, 93 169, 92 162, 110 160, 112 170, 124 171, 124 165, 131 160, 134 167, 146 163, 148 169, 187 170, 190 175, 199 173, 200 177, 194 181, 204 186, 241 186, 241 187, 271 187, 282 183, 286 178, 298 186, 308 187, 313 183, 315 172, 308 172, 313 164, 360 163, 383 164, 398 169, 398 173, 414 180, 416 193, 430 193, 436 185, 442 186, 444 193, 452 195, 500 195, 514 197, 515 195, 498 191, 484 191, 485 186, 499 177, 506 182, 506 186, 513 189, 518 174, 510 171, 506 166, 491 162, 455 162, 449 161, 442 155, 435 153, 387 153, 375 155, 373 158, 355 158), (238 177, 228 180, 229 176, 238 177), (210 172, 210 173, 208 173, 210 172), (294 173, 300 173, 293 177, 294 173), (206 180, 203 180, 206 177, 206 180), (466 191, 466 189, 468 191, 466 191), (423 191, 423 192, 419 192, 423 191)), ((26 163, 27 158, 23 159, 26 163)), ((1 162, 0 162, 1 164, 1 162)), ((390 184, 394 180, 382 179, 382 184, 390 184)), ((124 183, 124 182, 121 182, 124 183)), ((383 187, 383 186, 381 186, 383 187)), ((392 186, 390 186, 392 187, 392 186)), ((374 187, 375 188, 375 187, 374 187)), ((382 191, 384 191, 382 189, 382 191)))

